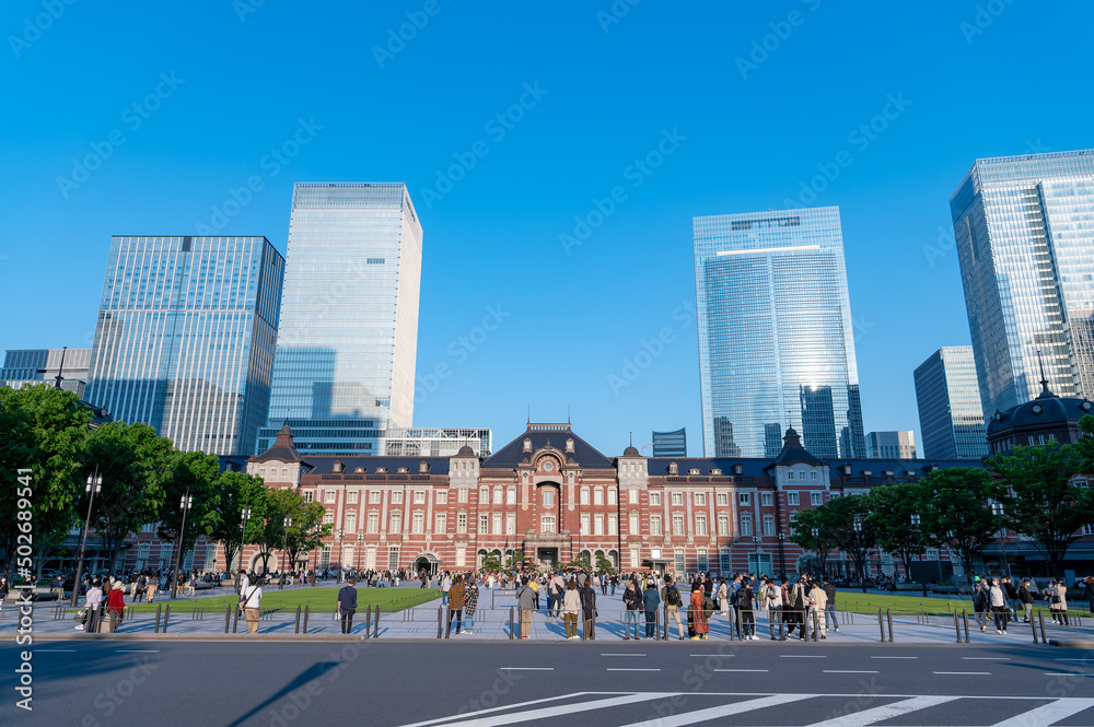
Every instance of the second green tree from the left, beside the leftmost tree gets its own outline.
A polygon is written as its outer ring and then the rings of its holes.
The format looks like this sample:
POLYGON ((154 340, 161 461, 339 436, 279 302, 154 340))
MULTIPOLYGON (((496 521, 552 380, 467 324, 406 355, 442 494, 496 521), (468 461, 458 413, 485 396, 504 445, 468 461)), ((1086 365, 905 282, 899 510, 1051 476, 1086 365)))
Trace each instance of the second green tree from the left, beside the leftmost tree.
POLYGON ((108 422, 88 437, 88 465, 103 477, 91 521, 112 568, 129 533, 159 519, 175 455, 171 441, 148 424, 108 422))

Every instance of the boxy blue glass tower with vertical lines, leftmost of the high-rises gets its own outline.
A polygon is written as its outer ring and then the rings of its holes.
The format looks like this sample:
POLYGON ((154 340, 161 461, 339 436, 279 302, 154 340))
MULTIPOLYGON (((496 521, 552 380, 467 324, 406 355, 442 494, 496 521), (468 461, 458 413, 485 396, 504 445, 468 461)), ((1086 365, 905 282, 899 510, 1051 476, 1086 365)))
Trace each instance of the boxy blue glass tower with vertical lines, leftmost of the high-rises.
POLYGON ((84 398, 179 449, 251 454, 283 274, 265 237, 114 237, 84 398))

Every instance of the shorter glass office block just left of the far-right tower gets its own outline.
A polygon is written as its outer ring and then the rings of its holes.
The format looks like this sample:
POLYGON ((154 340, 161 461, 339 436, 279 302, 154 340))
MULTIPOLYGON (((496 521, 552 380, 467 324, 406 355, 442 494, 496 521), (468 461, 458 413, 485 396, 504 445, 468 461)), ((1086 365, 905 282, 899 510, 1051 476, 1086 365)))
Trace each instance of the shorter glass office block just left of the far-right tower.
POLYGON ((919 364, 916 367, 916 399, 923 457, 980 459, 988 456, 971 345, 941 348, 919 364))

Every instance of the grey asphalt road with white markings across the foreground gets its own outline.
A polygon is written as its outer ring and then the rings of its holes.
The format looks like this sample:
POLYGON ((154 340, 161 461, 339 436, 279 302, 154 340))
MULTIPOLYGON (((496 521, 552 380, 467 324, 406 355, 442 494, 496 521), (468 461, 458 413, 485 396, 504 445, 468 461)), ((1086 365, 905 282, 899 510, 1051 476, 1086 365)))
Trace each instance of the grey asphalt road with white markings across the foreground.
POLYGON ((51 642, 0 725, 1094 726, 1094 653, 726 642, 51 642))

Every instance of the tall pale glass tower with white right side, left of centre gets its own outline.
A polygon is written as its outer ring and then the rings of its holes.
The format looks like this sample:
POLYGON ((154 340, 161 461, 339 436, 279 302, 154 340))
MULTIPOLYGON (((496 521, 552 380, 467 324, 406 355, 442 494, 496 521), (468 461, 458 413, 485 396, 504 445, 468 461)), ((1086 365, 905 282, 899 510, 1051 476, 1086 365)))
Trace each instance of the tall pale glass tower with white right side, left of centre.
POLYGON ((298 183, 265 452, 376 455, 414 417, 421 225, 403 183, 298 183))

